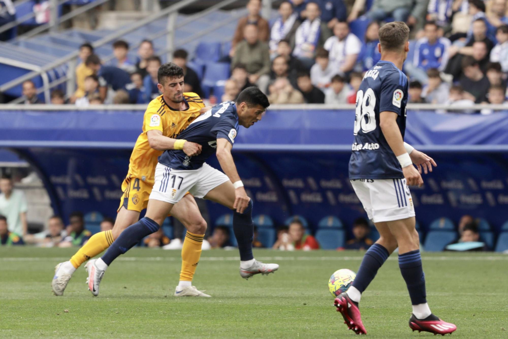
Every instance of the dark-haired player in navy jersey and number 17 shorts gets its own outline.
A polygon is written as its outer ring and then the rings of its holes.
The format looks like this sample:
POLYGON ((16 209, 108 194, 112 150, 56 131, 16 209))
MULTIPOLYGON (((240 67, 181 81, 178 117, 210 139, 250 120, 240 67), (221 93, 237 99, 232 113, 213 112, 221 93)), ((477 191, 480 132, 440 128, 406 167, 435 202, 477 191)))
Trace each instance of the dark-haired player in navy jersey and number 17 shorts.
MULTIPOLYGON (((178 135, 177 139, 201 145, 201 153, 188 156, 181 150, 167 150, 159 157, 145 217, 124 230, 88 270, 88 283, 93 295, 99 294, 101 279, 113 260, 157 231, 186 192, 234 210, 233 231, 240 251, 242 278, 272 273, 279 268, 277 264, 259 262, 252 255, 252 201, 245 192, 231 155, 239 126, 249 128, 260 121, 269 105, 266 95, 257 87, 249 87, 240 93, 236 102, 218 104, 178 135), (214 153, 224 173, 205 162, 214 153)), ((175 295, 177 293, 178 290, 175 295)))

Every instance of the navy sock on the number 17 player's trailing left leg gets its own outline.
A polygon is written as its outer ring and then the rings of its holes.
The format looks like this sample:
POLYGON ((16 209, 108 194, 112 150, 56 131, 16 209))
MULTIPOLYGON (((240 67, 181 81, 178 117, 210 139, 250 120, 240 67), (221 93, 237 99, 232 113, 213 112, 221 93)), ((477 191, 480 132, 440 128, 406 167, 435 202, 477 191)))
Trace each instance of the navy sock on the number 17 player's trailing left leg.
POLYGON ((156 232, 158 229, 159 225, 152 219, 147 217, 140 219, 138 222, 123 230, 120 236, 109 246, 101 259, 109 266, 119 255, 131 249, 141 239, 156 232))

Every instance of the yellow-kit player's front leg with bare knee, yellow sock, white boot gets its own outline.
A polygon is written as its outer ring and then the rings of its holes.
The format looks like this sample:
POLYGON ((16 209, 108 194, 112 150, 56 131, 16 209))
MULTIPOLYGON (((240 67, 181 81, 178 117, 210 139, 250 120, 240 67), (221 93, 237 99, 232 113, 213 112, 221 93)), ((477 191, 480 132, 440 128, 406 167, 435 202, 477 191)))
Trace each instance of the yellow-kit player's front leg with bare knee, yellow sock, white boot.
POLYGON ((187 229, 182 246, 182 269, 175 296, 209 297, 192 286, 192 280, 201 258, 201 245, 206 232, 206 221, 191 194, 186 194, 173 206, 171 215, 180 220, 187 229))

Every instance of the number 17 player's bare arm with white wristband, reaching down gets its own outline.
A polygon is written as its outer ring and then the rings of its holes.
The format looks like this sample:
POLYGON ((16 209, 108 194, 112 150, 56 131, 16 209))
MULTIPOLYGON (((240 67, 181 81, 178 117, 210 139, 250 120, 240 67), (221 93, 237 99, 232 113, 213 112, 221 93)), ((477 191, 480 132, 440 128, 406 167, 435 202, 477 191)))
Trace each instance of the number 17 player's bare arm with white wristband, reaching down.
POLYGON ((217 138, 216 155, 220 168, 223 169, 224 173, 235 186, 235 203, 233 204, 233 208, 236 209, 238 213, 243 213, 250 198, 248 197, 247 192, 245 192, 243 183, 241 182, 238 171, 236 170, 235 161, 231 155, 232 148, 233 144, 228 139, 222 137, 217 138))

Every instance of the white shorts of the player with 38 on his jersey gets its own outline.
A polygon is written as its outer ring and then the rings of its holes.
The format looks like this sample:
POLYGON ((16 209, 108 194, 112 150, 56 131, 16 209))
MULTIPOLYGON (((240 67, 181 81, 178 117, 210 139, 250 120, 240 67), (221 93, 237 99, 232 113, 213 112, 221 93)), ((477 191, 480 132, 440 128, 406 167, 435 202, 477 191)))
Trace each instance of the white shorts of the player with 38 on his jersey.
POLYGON ((355 179, 351 180, 351 185, 373 222, 415 216, 415 207, 405 179, 355 179))

